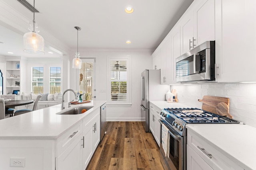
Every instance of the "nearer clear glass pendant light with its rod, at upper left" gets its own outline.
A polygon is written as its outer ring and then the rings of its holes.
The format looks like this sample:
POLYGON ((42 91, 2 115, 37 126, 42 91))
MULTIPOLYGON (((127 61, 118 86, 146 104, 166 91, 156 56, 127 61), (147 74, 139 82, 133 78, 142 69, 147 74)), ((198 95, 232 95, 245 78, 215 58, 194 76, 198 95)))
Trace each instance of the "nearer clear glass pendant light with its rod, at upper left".
POLYGON ((38 34, 38 24, 35 21, 35 0, 34 0, 34 19, 29 22, 28 29, 32 32, 25 33, 23 36, 23 45, 26 53, 44 54, 44 38, 38 34))

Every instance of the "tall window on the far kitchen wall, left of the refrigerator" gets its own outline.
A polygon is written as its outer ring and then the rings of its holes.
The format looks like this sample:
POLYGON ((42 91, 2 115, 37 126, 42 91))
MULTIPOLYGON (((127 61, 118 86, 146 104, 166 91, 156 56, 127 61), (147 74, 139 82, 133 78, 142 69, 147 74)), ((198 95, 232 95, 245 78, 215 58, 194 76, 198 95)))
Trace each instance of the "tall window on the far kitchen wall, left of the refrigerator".
POLYGON ((128 58, 109 59, 110 103, 129 103, 128 58))

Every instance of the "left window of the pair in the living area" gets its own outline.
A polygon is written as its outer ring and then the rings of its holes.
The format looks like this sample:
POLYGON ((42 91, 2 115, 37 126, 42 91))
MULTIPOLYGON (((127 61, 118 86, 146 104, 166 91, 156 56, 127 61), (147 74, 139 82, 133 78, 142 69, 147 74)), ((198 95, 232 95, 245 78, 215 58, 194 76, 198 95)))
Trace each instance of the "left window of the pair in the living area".
POLYGON ((39 94, 44 92, 44 67, 32 67, 32 92, 39 94))

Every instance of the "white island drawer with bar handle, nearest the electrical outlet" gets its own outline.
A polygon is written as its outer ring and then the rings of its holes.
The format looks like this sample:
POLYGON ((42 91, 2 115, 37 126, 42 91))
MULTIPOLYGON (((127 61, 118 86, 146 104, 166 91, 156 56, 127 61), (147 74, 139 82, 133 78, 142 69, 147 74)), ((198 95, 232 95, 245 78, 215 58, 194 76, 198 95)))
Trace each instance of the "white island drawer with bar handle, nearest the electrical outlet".
POLYGON ((56 142, 56 153, 58 157, 68 146, 82 133, 82 121, 74 125, 71 129, 66 131, 63 135, 58 137, 56 142))

